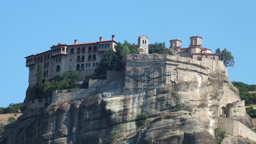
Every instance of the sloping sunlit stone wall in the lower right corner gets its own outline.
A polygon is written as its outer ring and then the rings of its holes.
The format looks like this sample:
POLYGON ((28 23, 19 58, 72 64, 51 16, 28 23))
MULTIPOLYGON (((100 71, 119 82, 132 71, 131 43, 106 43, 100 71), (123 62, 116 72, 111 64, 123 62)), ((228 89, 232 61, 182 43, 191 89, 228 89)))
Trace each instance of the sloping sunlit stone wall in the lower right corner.
POLYGON ((239 136, 256 142, 256 133, 239 121, 219 116, 218 125, 231 136, 239 136))

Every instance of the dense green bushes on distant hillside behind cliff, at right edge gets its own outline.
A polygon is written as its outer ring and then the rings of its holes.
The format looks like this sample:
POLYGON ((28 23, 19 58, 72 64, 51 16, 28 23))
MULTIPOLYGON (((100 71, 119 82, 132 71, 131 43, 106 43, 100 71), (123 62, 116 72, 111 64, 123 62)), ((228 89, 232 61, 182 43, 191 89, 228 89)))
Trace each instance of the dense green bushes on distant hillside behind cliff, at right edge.
POLYGON ((248 91, 256 91, 256 85, 247 85, 242 82, 232 82, 237 89, 242 100, 245 100, 246 106, 250 104, 256 104, 256 94, 249 93, 248 91))

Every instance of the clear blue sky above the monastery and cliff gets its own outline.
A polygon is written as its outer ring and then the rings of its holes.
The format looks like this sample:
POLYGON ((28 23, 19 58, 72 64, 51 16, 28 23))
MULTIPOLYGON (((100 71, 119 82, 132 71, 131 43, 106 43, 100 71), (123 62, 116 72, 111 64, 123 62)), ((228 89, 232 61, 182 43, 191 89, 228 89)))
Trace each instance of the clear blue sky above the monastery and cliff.
POLYGON ((28 87, 25 56, 57 43, 110 40, 150 43, 203 37, 203 47, 227 48, 235 58, 231 81, 256 84, 256 1, 1 1, 0 107, 20 103, 28 87))

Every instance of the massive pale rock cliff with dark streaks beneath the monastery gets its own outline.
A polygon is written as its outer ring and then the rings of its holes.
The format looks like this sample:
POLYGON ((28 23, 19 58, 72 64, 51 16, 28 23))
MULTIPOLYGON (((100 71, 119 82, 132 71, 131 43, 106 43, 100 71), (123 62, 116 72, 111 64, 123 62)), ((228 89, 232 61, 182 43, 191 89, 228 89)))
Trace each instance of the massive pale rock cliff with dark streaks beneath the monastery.
POLYGON ((5 126, 0 143, 110 143, 115 131, 118 143, 215 143, 221 107, 240 100, 226 73, 194 73, 177 84, 132 91, 116 80, 41 110, 25 106, 25 113, 5 126), (175 111, 177 103, 192 107, 192 115, 175 111), (147 125, 136 129, 138 113, 147 115, 147 125))

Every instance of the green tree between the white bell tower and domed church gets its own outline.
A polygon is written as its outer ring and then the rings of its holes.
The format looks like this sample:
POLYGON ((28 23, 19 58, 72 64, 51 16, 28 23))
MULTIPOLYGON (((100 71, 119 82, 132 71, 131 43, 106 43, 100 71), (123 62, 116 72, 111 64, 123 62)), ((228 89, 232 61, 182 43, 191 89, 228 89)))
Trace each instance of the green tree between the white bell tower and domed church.
POLYGON ((159 54, 166 53, 168 55, 173 55, 171 50, 165 47, 165 42, 163 43, 156 42, 154 44, 151 44, 148 49, 148 53, 159 53, 159 54))

